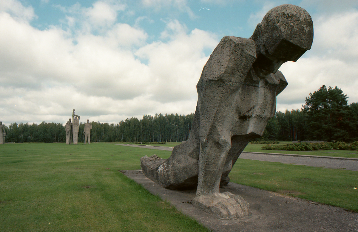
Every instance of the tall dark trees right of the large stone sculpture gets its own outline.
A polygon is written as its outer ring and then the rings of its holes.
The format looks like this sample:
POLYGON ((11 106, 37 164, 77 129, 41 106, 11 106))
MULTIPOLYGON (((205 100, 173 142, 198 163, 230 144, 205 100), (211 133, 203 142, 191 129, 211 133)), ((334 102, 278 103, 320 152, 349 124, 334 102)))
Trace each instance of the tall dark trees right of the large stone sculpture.
POLYGON ((357 141, 358 103, 348 105, 347 98, 338 87, 323 85, 306 97, 301 110, 276 112, 267 123, 261 139, 357 141))

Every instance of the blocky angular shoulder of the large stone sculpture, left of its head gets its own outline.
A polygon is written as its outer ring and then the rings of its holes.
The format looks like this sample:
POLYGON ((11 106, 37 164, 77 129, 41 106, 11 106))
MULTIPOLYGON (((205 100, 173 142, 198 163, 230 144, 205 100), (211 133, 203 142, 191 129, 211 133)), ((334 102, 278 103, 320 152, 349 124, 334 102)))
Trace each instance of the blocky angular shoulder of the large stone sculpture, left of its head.
POLYGON ((204 66, 204 80, 227 79, 242 82, 256 60, 256 46, 251 39, 224 36, 204 66))

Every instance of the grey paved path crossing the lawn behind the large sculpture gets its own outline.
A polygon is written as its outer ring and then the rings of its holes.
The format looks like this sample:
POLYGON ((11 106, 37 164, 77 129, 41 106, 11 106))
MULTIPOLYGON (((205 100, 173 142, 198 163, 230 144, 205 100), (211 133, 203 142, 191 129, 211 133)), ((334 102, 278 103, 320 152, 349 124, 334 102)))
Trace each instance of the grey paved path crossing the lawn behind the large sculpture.
MULTIPOLYGON (((116 145, 168 150, 168 151, 173 150, 173 147, 160 147, 160 146, 151 146, 151 145, 131 145, 131 144, 116 144, 116 145)), ((291 154, 277 154, 277 153, 256 153, 256 152, 243 152, 241 153, 239 158, 358 171, 357 158, 291 155, 291 154)))

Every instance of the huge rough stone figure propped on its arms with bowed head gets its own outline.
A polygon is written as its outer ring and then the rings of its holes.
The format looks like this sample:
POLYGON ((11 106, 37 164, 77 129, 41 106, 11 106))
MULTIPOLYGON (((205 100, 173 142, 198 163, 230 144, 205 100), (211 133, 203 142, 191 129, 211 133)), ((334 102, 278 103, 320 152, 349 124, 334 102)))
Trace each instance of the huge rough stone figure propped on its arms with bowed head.
POLYGON ((197 188, 194 204, 221 217, 243 217, 248 203, 229 192, 228 174, 251 139, 261 137, 276 111, 276 95, 287 85, 278 69, 296 61, 313 41, 304 9, 271 9, 250 39, 225 36, 205 64, 187 141, 168 159, 142 157, 142 172, 169 189, 197 188))

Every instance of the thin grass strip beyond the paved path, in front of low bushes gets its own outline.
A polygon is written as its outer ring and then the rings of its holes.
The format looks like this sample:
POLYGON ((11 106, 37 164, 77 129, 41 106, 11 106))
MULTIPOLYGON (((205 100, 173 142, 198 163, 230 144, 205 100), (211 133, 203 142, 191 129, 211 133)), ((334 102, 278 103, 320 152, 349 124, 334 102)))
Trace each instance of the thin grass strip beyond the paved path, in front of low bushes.
MULTIPOLYGON (((292 142, 280 142, 280 144, 287 144, 292 142)), ((297 150, 263 150, 266 144, 247 144, 244 152, 262 152, 262 153, 280 153, 280 154, 297 154, 297 155, 309 155, 309 156, 332 156, 332 157, 344 157, 344 158, 358 158, 357 150, 318 150, 318 151, 297 151, 297 150)), ((277 144, 273 144, 277 145, 277 144)))

